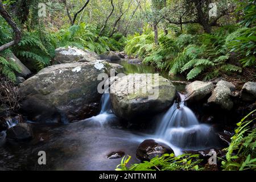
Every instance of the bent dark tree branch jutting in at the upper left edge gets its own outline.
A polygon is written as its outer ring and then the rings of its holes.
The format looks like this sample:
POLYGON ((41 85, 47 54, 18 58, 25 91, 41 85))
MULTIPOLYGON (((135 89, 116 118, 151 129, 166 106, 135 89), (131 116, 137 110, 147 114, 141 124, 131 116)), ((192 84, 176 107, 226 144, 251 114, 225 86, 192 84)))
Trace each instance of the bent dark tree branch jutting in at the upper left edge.
POLYGON ((0 14, 3 16, 3 18, 6 20, 6 22, 11 26, 11 28, 13 28, 13 31, 15 33, 15 38, 13 41, 0 47, 0 51, 3 51, 11 46, 18 44, 21 40, 22 33, 21 33, 20 29, 18 28, 17 24, 13 21, 13 19, 11 19, 11 16, 5 10, 5 7, 3 7, 2 1, 0 1, 0 14))

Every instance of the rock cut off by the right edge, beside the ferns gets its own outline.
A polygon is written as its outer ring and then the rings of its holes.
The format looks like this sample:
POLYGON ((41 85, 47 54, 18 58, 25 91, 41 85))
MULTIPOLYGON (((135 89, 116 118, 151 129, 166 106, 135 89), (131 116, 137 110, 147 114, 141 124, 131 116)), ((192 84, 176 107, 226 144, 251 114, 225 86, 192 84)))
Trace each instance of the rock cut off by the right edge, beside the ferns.
POLYGON ((243 85, 241 98, 243 101, 256 101, 256 82, 247 82, 243 85))

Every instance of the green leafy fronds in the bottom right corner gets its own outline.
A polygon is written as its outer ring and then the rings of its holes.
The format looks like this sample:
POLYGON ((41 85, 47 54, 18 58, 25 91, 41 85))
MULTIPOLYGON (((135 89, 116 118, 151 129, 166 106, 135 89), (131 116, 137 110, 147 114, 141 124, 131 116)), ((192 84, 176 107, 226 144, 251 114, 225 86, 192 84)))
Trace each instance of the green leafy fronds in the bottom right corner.
POLYGON ((256 129, 249 127, 256 119, 249 119, 249 117, 255 112, 256 110, 252 111, 237 123, 236 134, 231 138, 229 147, 225 149, 226 160, 222 161, 224 170, 256 170, 256 129))

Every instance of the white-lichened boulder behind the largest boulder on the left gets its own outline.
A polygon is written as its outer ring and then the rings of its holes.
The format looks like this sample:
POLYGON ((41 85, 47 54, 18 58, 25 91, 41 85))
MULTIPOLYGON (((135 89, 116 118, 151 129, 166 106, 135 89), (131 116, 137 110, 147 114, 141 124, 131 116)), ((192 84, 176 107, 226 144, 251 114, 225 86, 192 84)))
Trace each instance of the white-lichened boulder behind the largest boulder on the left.
POLYGON ((98 60, 96 53, 88 50, 83 51, 77 47, 60 47, 55 49, 55 61, 62 63, 89 62, 98 60))

